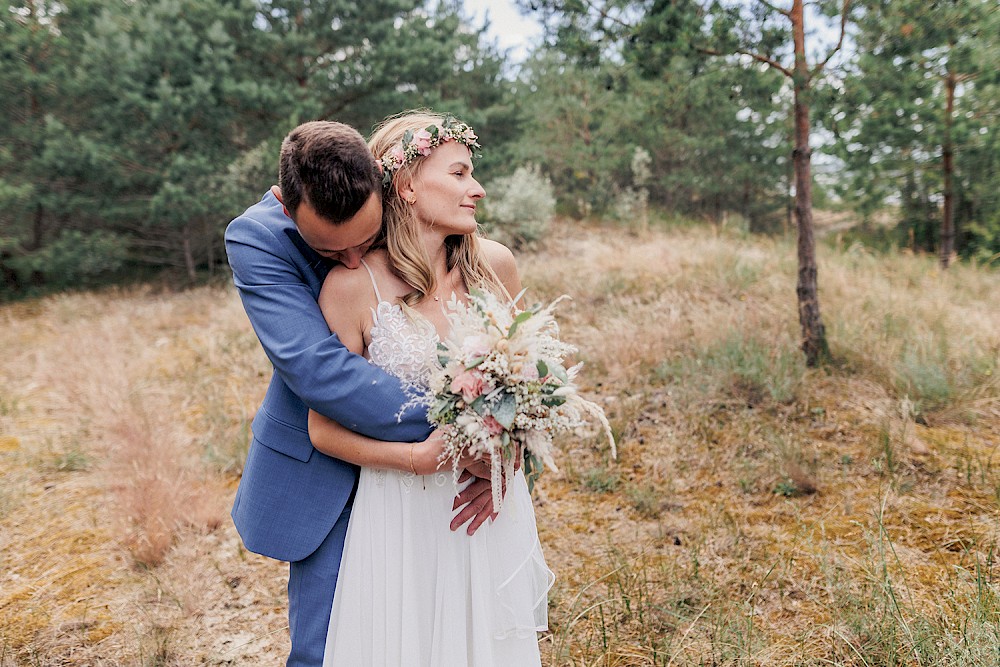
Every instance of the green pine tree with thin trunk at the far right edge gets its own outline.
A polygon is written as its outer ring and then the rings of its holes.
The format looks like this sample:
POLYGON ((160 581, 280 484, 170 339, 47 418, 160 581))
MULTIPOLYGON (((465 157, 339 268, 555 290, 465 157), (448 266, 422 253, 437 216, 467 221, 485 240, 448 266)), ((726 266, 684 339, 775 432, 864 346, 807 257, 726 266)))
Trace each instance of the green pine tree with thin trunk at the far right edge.
POLYGON ((898 199, 903 229, 919 247, 936 247, 947 268, 962 250, 960 223, 975 233, 997 219, 989 147, 1000 10, 987 0, 879 0, 863 10, 832 124, 854 176, 848 195, 866 211, 898 199))

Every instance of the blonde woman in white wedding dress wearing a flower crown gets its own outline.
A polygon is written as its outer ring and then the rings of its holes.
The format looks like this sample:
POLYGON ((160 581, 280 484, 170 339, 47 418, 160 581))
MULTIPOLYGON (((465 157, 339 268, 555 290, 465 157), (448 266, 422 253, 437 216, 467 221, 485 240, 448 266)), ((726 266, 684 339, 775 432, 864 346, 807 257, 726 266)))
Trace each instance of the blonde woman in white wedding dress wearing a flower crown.
MULTIPOLYGON (((330 272, 319 303, 348 349, 426 385, 452 294, 479 288, 509 299, 520 278, 510 250, 477 233, 486 193, 473 177, 472 128, 410 112, 383 122, 369 147, 384 174, 382 238, 364 270, 330 272)), ((324 666, 539 665, 553 575, 523 472, 508 480, 500 514, 468 534, 448 526, 461 480, 449 465, 438 470, 440 435, 361 451, 317 413, 309 433, 321 451, 364 466, 324 666)), ((483 462, 462 464, 488 476, 483 462)))

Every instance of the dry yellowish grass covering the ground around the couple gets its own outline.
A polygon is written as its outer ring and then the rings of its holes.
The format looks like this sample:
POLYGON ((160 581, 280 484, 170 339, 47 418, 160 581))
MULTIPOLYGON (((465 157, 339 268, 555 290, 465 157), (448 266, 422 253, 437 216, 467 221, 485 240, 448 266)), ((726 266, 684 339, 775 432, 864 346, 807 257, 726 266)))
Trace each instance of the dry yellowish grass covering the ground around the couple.
MULTIPOLYGON (((995 665, 997 274, 562 226, 520 259, 620 440, 538 485, 551 665, 995 665), (567 261, 572 258, 572 261, 567 261)), ((227 519, 269 368, 228 287, 0 309, 0 665, 274 664, 284 568, 227 519)))

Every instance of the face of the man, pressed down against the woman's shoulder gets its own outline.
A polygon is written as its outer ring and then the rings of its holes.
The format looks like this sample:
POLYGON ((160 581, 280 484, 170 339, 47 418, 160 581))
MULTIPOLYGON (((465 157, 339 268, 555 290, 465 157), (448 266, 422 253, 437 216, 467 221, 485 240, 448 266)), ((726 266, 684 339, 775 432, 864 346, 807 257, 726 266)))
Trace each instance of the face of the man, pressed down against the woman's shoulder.
POLYGON ((353 217, 339 225, 320 217, 311 205, 302 202, 294 220, 310 248, 349 269, 356 269, 382 229, 382 200, 372 193, 353 217))

